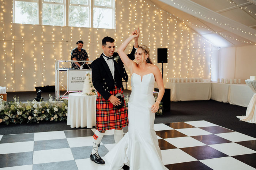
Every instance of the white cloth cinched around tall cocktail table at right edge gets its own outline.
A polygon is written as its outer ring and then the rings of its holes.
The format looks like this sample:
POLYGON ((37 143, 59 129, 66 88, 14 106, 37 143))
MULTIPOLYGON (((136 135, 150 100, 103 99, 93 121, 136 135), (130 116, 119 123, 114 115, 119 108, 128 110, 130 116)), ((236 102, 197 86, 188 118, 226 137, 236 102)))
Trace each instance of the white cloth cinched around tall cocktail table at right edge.
POLYGON ((245 83, 254 94, 248 104, 245 116, 237 116, 237 118, 245 122, 256 123, 256 80, 245 80, 245 83))

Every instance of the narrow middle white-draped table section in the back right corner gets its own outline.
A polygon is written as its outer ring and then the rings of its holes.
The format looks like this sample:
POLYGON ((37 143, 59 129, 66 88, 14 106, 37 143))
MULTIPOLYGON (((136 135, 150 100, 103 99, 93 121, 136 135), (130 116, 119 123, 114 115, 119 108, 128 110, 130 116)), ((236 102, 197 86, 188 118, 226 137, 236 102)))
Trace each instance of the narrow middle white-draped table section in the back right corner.
POLYGON ((214 83, 211 86, 211 99, 218 102, 229 102, 229 88, 230 84, 214 83))

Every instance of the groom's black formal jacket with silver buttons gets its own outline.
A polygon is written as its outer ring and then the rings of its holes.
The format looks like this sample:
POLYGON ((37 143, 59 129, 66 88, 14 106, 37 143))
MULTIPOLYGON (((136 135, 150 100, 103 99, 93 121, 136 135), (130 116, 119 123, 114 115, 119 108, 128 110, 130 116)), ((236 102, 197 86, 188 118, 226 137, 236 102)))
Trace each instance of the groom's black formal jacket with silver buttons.
MULTIPOLYGON (((129 59, 135 59, 136 49, 132 48, 131 54, 128 54, 129 59)), ((117 52, 114 52, 113 57, 118 56, 117 52)), ((127 82, 128 75, 124 69, 124 63, 119 58, 117 61, 114 60, 114 79, 109 69, 108 64, 103 58, 103 53, 97 59, 91 63, 92 79, 94 88, 103 96, 104 99, 108 100, 112 95, 109 91, 113 91, 114 87, 123 88, 122 78, 127 82)))

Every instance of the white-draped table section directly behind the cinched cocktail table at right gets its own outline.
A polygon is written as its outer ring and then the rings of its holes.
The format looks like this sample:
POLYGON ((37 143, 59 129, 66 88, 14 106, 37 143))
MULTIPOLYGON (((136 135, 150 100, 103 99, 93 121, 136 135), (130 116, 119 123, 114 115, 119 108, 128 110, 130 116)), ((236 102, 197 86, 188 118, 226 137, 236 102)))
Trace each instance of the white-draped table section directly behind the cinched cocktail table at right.
POLYGON ((248 107, 253 94, 246 84, 230 84, 229 103, 248 107))

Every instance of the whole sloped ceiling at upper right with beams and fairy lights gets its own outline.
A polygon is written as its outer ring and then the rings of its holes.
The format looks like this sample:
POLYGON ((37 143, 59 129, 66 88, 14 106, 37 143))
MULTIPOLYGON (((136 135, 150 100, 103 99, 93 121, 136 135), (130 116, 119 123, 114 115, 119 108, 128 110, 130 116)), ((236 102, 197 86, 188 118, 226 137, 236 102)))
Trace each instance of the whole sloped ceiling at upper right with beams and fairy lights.
POLYGON ((256 44, 256 0, 151 0, 217 47, 256 44))

